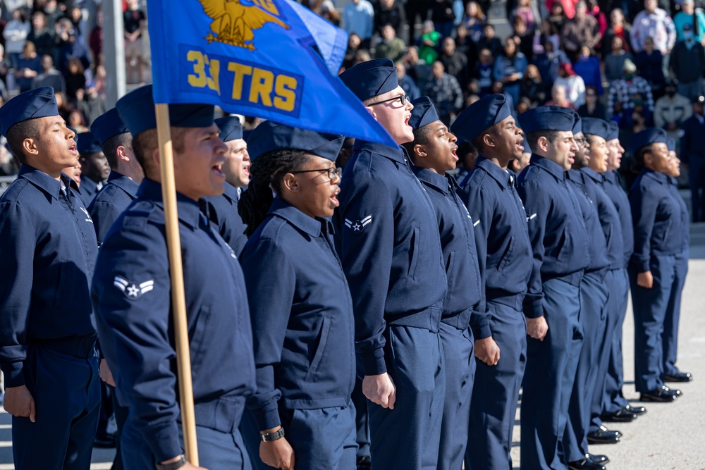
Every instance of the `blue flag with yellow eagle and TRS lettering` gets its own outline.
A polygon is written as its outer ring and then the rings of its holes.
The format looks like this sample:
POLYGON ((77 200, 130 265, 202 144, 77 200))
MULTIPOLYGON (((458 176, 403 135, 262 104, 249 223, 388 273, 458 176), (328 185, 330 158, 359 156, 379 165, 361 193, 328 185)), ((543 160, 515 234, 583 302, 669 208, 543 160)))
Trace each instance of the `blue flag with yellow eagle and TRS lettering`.
POLYGON ((336 75, 347 35, 290 0, 149 0, 156 103, 206 103, 396 147, 336 75))

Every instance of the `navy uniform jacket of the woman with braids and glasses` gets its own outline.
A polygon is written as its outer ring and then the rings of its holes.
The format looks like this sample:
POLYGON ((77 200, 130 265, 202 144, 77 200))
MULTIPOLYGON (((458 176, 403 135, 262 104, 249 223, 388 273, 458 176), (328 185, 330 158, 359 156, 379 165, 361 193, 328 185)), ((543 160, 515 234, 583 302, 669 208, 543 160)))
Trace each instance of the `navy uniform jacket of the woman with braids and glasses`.
POLYGON ((330 221, 274 199, 240 256, 255 340, 260 430, 287 409, 348 407, 355 385, 353 301, 330 221))

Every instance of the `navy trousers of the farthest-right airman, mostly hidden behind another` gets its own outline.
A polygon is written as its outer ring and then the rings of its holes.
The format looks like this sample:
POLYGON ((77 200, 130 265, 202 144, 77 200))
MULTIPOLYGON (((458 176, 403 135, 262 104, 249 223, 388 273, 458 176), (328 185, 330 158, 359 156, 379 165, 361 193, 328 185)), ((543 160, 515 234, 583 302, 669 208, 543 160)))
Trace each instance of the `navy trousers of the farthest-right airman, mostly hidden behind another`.
POLYGON ((675 255, 675 276, 673 287, 668 299, 666 319, 663 321, 663 373, 673 376, 677 374, 678 367, 678 325, 680 324, 680 297, 685 285, 685 276, 688 274, 689 250, 686 249, 675 255))

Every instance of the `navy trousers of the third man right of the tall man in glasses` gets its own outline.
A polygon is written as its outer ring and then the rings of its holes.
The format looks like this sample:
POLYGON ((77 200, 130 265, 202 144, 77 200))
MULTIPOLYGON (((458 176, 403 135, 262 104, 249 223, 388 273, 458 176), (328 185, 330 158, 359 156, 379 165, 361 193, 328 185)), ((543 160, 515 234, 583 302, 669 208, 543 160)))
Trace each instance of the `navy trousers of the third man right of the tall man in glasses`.
POLYGON ((568 404, 582 349, 580 286, 552 278, 543 283, 548 333, 527 339, 527 368, 521 411, 521 468, 565 469, 558 443, 568 421, 568 404))

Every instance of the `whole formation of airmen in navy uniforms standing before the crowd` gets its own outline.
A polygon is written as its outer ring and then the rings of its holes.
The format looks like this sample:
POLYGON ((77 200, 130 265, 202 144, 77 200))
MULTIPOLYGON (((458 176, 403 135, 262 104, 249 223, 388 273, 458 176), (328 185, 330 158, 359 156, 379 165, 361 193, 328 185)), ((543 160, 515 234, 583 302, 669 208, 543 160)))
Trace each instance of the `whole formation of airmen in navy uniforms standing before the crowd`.
MULTIPOLYGON (((620 433, 601 417, 645 411, 621 395, 630 283, 642 400, 675 400, 664 378, 690 379, 675 369, 687 214, 665 134, 635 136, 644 169, 627 200, 604 121, 541 107, 515 123, 492 95, 449 130, 427 98, 408 101, 390 61, 341 79, 399 146, 357 142, 341 178, 342 137, 268 121, 247 140, 241 195, 225 183, 235 145, 242 159, 238 125, 216 126, 212 106, 170 106, 201 464, 355 468, 357 369, 372 468, 507 468, 522 381, 522 468, 604 468, 587 445, 620 433), (482 156, 460 186, 455 135, 482 156), (525 141, 534 154, 517 180, 506 168, 525 141)), ((152 89, 92 126, 113 171, 88 209, 61 173, 78 155, 58 115, 51 89, 0 109, 23 163, 0 199, 16 468, 88 468, 97 338, 123 407, 124 468, 195 468, 180 436, 152 89)))

